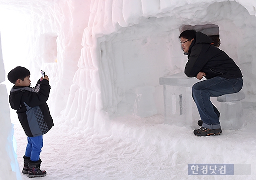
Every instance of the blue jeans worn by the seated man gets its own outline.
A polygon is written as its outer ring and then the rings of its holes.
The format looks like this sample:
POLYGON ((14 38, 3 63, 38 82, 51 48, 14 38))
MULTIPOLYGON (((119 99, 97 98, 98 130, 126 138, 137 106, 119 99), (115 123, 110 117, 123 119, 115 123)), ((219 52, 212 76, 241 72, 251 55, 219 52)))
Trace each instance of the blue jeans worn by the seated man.
POLYGON ((219 121, 220 112, 212 104, 210 97, 236 93, 242 87, 242 78, 226 79, 223 77, 214 77, 195 83, 192 87, 192 97, 203 121, 202 127, 209 129, 221 128, 219 121))

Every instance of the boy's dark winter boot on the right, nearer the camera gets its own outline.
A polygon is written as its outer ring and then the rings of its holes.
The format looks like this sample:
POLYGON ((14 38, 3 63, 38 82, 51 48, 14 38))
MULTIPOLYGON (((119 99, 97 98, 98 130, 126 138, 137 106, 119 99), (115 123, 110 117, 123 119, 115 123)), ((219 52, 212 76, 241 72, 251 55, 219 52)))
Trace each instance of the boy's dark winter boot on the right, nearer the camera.
POLYGON ((46 171, 41 171, 40 170, 40 165, 41 165, 41 159, 38 161, 31 161, 29 162, 29 173, 28 177, 29 178, 34 178, 34 177, 45 177, 46 176, 46 171))

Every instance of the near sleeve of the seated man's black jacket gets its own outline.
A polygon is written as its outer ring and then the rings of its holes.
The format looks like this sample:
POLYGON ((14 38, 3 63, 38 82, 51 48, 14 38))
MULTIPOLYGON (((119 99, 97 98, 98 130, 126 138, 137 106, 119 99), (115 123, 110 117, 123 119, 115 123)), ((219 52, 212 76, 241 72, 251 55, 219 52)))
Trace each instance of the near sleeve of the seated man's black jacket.
POLYGON ((191 54, 188 57, 189 60, 184 70, 184 73, 188 77, 196 77, 208 61, 207 57, 204 56, 206 48, 208 48, 208 46, 205 46, 203 43, 196 44, 192 47, 191 54))

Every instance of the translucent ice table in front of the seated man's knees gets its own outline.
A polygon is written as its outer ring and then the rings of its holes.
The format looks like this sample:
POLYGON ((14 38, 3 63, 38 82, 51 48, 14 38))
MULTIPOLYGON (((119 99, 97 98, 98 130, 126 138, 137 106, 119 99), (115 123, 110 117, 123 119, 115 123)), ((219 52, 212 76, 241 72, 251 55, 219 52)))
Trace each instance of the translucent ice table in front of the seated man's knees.
POLYGON ((199 120, 199 114, 191 96, 191 87, 198 82, 188 78, 183 72, 159 78, 163 85, 164 123, 192 125, 192 120, 199 120))

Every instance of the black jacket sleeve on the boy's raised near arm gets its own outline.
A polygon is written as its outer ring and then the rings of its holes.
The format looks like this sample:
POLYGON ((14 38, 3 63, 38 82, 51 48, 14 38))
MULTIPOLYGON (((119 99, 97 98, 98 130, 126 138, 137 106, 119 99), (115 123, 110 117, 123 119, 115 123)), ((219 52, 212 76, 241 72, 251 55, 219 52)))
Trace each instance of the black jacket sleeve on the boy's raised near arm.
POLYGON ((50 89, 49 82, 47 80, 42 80, 40 90, 38 92, 28 91, 28 93, 23 95, 22 100, 30 107, 39 106, 48 100, 50 89))

